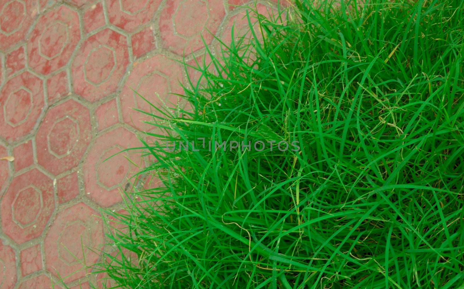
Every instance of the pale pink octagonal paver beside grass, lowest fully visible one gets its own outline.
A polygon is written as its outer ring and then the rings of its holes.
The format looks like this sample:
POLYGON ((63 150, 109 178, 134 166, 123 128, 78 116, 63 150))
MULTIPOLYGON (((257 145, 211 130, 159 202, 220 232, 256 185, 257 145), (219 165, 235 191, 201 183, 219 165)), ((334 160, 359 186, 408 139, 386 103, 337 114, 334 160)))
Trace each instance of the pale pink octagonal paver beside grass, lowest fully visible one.
POLYGON ((45 236, 45 267, 53 275, 67 277, 72 282, 90 272, 85 269, 81 258, 85 256, 87 265, 97 262, 103 247, 103 221, 98 213, 84 203, 58 212, 50 230, 45 236), (82 243, 81 243, 82 240, 82 243), (72 274, 71 274, 72 273, 72 274))

